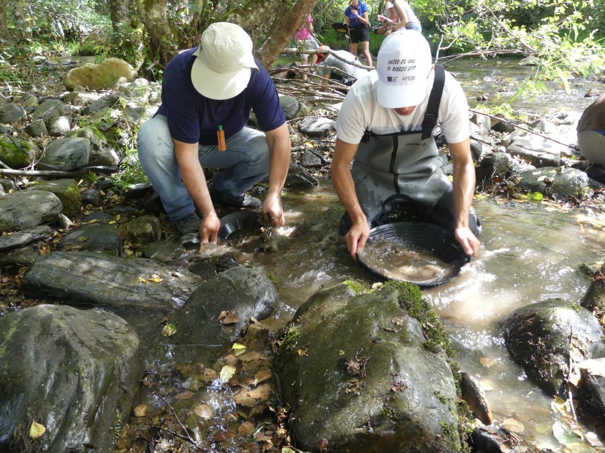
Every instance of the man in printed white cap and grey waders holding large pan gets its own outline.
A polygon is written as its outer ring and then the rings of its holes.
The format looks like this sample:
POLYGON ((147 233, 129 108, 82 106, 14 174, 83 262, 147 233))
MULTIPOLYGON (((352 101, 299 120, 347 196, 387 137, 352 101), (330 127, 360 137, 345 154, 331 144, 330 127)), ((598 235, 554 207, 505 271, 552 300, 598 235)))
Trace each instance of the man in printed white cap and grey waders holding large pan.
POLYGON ((481 226, 471 208, 468 104, 456 79, 433 66, 422 34, 401 30, 385 38, 376 71, 350 89, 335 128, 332 179, 347 210, 341 232, 354 259, 370 227, 387 223, 397 202, 449 228, 466 254, 475 254, 481 226), (440 170, 431 134, 437 124, 454 159, 453 185, 440 170))

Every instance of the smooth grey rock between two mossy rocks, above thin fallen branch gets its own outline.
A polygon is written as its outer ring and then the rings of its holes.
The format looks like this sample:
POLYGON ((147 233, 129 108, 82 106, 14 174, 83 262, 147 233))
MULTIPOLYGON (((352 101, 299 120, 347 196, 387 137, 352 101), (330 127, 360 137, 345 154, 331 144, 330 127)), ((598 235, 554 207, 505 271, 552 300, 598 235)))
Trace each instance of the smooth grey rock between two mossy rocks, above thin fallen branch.
POLYGON ((89 157, 88 138, 57 138, 48 144, 39 165, 45 170, 76 170, 86 167, 89 157))

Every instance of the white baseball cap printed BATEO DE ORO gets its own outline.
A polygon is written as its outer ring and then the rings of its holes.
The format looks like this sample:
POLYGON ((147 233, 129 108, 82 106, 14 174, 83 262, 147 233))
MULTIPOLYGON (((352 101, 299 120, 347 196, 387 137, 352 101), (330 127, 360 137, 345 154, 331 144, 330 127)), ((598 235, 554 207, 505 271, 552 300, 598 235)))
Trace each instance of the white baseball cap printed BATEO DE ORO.
POLYGON ((376 61, 378 104, 387 109, 413 107, 427 95, 433 67, 427 40, 414 30, 391 33, 382 41, 376 61))

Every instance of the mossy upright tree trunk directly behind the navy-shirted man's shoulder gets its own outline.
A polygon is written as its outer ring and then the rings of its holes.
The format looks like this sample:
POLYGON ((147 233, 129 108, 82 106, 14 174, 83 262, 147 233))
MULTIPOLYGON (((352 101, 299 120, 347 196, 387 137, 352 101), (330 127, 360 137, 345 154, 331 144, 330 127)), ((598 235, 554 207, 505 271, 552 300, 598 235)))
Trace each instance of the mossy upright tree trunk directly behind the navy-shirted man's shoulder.
POLYGON ((168 24, 166 0, 143 0, 139 13, 149 35, 149 57, 164 67, 178 48, 168 24))

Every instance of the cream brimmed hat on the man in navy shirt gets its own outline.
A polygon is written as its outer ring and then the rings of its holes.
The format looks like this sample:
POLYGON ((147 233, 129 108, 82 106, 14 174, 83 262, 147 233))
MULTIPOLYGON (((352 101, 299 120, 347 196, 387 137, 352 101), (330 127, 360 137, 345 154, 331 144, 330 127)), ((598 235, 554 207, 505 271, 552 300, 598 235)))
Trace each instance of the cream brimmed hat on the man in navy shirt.
POLYGON ((250 82, 250 68, 258 71, 250 36, 229 22, 209 25, 194 55, 191 82, 201 95, 211 99, 237 96, 250 82))

